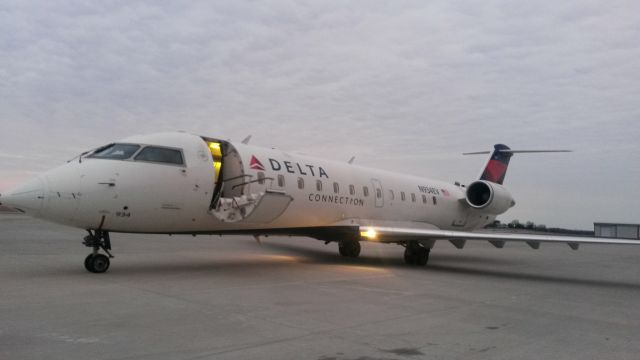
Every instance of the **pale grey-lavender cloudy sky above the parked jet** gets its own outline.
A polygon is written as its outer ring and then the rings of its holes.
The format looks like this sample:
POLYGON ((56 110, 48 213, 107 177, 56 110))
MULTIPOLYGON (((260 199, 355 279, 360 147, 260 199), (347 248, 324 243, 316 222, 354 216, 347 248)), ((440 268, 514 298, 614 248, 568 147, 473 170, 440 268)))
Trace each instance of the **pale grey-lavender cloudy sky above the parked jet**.
POLYGON ((640 222, 637 1, 0 2, 0 191, 186 130, 447 181, 520 155, 502 220, 640 222))

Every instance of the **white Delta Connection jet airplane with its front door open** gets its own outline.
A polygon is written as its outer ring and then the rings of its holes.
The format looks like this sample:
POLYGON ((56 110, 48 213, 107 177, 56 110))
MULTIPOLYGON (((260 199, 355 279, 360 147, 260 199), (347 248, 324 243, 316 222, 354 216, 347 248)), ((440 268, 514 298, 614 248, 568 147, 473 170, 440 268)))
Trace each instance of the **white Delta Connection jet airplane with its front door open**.
POLYGON ((186 132, 132 136, 84 152, 0 195, 0 205, 84 229, 92 273, 109 269, 110 233, 288 235, 337 243, 356 258, 360 242, 405 247, 427 264, 436 241, 640 245, 640 240, 475 232, 515 205, 503 186, 517 153, 497 144, 468 185, 327 161, 186 132), (105 254, 101 253, 102 250, 105 254))

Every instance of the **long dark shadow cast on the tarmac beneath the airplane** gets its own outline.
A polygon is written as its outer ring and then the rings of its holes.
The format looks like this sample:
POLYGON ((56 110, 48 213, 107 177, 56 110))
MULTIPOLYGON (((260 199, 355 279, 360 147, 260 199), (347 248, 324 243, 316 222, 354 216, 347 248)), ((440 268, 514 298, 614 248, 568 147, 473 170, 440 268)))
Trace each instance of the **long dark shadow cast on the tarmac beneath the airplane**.
MULTIPOLYGON (((193 275, 196 273, 215 273, 218 276, 242 276, 258 274, 265 276, 269 272, 288 270, 300 264, 309 265, 344 265, 344 266, 370 266, 387 269, 398 269, 402 271, 422 271, 432 273, 460 274, 464 276, 475 276, 484 278, 519 280, 537 283, 554 283, 566 285, 579 285, 590 287, 602 287, 612 289, 640 290, 640 284, 607 279, 589 279, 584 277, 563 276, 562 274, 540 274, 523 271, 515 268, 522 265, 519 261, 509 258, 486 257, 473 254, 444 254, 435 253, 431 255, 429 264, 426 267, 407 266, 401 256, 397 254, 365 255, 359 258, 344 258, 337 254, 335 247, 324 249, 314 249, 296 244, 263 243, 263 251, 258 251, 260 255, 252 253, 247 257, 232 259, 219 258, 198 258, 196 260, 158 260, 141 263, 114 263, 109 274, 113 277, 135 276, 135 275, 193 275), (264 254, 262 254, 264 253, 264 254), (273 258, 270 258, 273 256, 273 258), (283 260, 282 256, 289 256, 288 260, 283 260), (487 266, 498 266, 500 268, 488 269, 487 266), (509 268, 513 266, 514 268, 509 268)), ((23 276, 60 276, 60 275, 86 275, 86 270, 82 266, 69 268, 56 268, 55 271, 40 269, 31 274, 21 272, 23 276)), ((535 270, 531 270, 535 271, 535 270)))

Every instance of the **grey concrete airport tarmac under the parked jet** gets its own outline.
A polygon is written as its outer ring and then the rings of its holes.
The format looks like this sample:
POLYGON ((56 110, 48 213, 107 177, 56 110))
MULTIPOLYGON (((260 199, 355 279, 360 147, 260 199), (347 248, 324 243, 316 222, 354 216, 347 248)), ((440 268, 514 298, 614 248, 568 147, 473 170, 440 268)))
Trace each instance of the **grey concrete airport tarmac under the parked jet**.
POLYGON ((640 358, 640 247, 84 235, 0 215, 0 359, 640 358))

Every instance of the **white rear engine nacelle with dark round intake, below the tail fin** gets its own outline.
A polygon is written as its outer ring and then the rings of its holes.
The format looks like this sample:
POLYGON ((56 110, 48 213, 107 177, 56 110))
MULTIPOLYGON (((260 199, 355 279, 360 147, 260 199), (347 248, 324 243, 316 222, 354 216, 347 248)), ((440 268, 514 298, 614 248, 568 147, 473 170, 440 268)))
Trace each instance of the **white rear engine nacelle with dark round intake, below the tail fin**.
POLYGON ((478 180, 467 186, 467 204, 485 213, 499 215, 509 210, 516 202, 502 185, 478 180))

